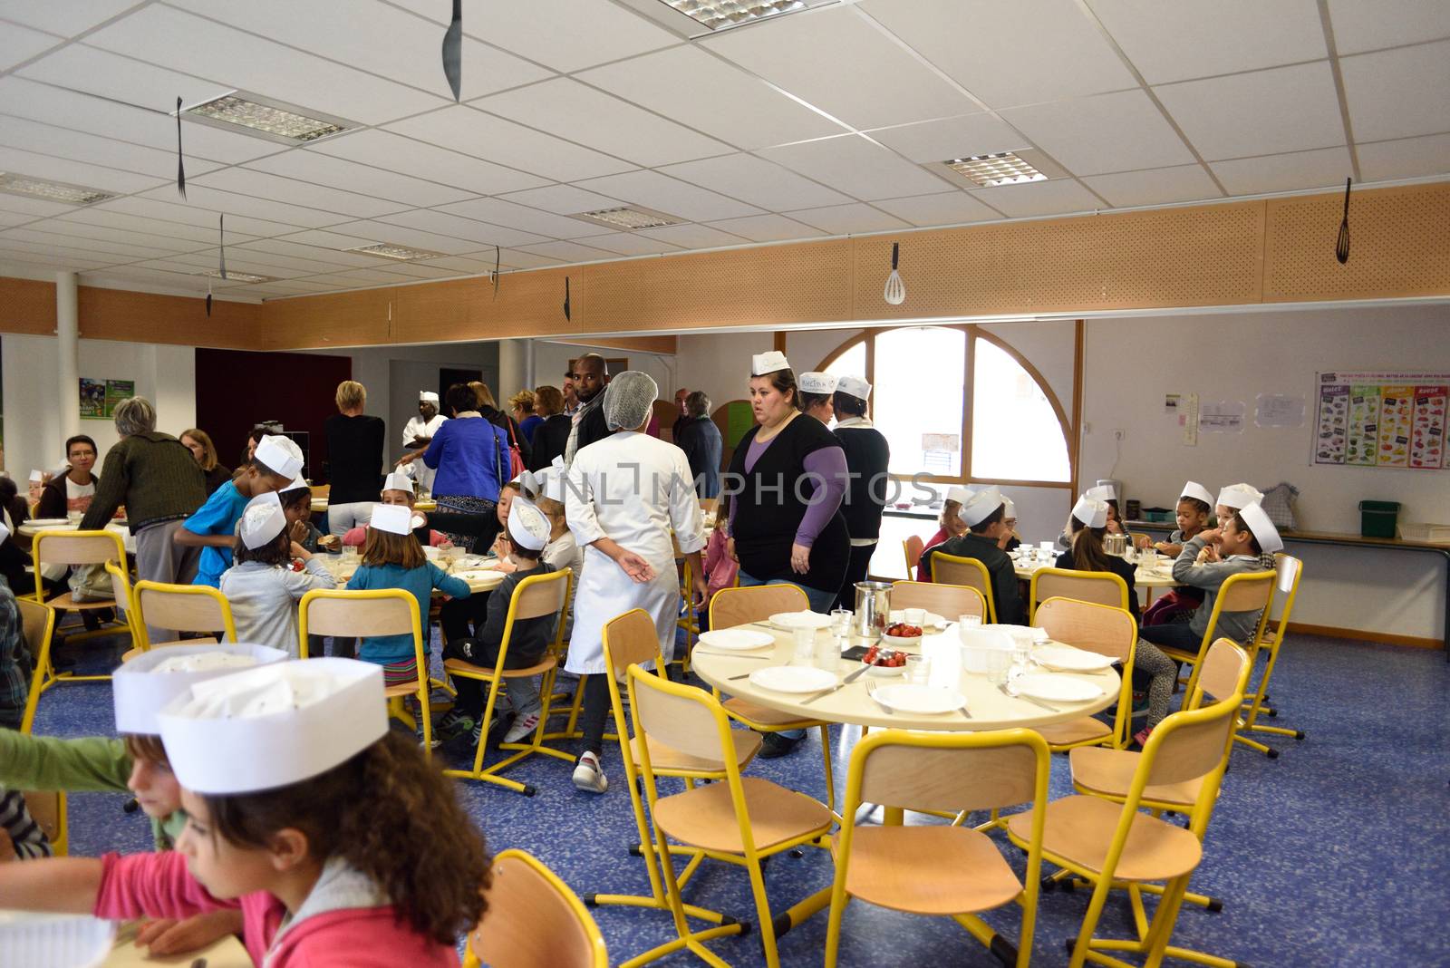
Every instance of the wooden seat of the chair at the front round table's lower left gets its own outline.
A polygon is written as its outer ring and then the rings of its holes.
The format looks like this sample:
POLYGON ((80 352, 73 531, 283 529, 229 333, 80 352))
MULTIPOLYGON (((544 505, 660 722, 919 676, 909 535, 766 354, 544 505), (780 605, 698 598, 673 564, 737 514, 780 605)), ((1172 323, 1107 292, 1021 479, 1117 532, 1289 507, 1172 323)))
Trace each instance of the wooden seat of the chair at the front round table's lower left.
MULTIPOLYGON (((812 833, 825 833, 835 822, 825 804, 803 793, 777 787, 760 777, 741 777, 740 783, 757 851, 768 851, 812 833)), ((735 803, 731 800, 729 784, 725 783, 712 783, 655 801, 654 822, 680 843, 724 854, 745 851, 735 803)))

